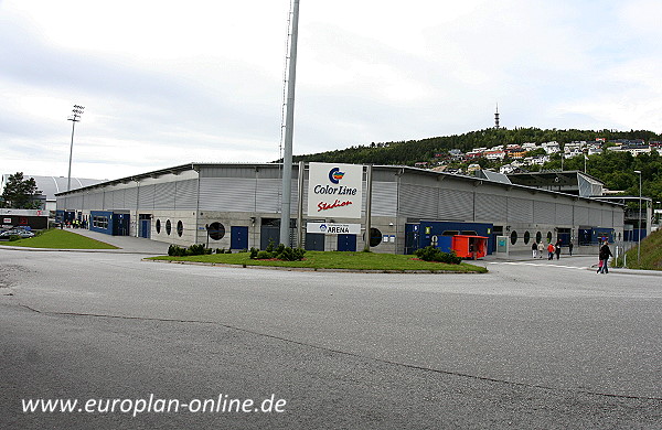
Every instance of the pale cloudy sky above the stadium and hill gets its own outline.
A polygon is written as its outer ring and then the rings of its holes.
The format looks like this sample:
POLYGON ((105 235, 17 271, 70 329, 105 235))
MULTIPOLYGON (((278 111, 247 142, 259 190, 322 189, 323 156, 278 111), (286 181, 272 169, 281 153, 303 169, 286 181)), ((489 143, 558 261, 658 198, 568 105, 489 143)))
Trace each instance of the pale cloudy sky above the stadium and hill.
MULTIPOLYGON (((278 158, 290 0, 0 0, 0 173, 278 158)), ((295 154, 493 125, 662 132, 659 0, 300 0, 295 154)))

